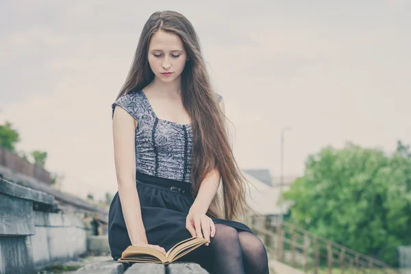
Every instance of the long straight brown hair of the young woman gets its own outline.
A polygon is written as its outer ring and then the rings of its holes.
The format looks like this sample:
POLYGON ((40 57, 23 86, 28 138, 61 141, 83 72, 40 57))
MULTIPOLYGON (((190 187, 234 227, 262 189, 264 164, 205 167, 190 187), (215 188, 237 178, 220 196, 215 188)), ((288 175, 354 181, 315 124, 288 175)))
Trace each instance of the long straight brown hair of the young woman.
POLYGON ((208 208, 208 216, 239 221, 248 209, 245 201, 245 178, 242 176, 232 147, 227 127, 210 76, 201 53, 201 45, 194 27, 178 12, 154 12, 145 23, 132 66, 117 98, 131 90, 145 88, 154 78, 147 59, 149 42, 155 32, 177 34, 182 39, 188 61, 181 77, 182 102, 192 121, 193 143, 191 179, 193 197, 206 175, 217 169, 221 175, 223 201, 219 191, 208 208))

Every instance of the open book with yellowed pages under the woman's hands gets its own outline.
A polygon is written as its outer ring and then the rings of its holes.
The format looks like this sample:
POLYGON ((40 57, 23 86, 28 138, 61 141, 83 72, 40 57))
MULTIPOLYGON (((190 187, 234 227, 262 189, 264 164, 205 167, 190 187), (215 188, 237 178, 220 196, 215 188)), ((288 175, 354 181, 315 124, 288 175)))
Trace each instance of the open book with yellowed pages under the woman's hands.
POLYGON ((171 249, 167 251, 166 255, 151 247, 134 247, 132 245, 129 245, 129 247, 127 247, 125 251, 121 253, 121 258, 117 261, 169 264, 186 255, 188 252, 193 251, 197 247, 200 247, 206 242, 206 239, 199 236, 188 238, 186 240, 183 240, 182 242, 178 242, 174 247, 171 247, 171 249))

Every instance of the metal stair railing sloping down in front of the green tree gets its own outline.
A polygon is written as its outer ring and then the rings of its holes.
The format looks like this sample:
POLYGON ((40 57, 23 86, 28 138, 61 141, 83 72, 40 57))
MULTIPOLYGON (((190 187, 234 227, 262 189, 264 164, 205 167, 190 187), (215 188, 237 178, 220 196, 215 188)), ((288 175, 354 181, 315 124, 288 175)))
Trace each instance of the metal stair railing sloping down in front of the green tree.
POLYGON ((288 264, 304 273, 351 274, 403 273, 375 258, 316 236, 286 221, 256 214, 246 223, 264 242, 269 258, 288 264))

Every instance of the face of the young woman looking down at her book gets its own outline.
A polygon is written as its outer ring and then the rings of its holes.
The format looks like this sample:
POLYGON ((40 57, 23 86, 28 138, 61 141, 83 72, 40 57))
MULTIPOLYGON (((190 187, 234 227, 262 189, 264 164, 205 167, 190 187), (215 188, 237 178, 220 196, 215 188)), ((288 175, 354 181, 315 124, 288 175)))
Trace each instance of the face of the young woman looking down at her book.
POLYGON ((151 36, 148 60, 155 77, 162 82, 173 82, 186 66, 187 54, 182 39, 162 30, 155 32, 151 36))

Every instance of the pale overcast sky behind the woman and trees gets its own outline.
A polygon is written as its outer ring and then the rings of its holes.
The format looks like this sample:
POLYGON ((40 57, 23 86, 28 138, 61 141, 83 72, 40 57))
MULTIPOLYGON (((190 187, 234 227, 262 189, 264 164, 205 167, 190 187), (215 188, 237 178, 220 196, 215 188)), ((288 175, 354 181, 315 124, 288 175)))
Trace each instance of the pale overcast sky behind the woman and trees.
POLYGON ((0 1, 0 123, 47 151, 63 190, 116 191, 111 104, 147 18, 192 22, 234 123, 240 168, 301 175, 351 141, 411 143, 411 1, 0 1))

